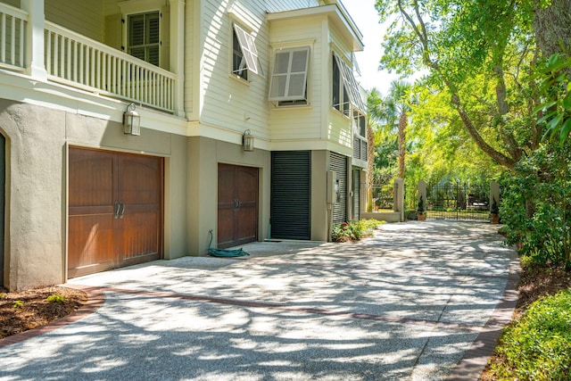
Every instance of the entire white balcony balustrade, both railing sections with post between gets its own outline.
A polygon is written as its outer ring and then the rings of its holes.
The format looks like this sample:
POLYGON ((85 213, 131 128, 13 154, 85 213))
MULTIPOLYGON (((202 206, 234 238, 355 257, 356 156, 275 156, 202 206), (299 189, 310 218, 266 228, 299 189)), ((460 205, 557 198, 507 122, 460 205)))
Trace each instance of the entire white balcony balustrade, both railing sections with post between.
POLYGON ((42 22, 43 40, 33 38, 29 20, 29 12, 0 3, 0 69, 34 77, 33 62, 42 62, 48 81, 176 112, 175 73, 50 21, 42 22), (43 59, 37 60, 35 54, 43 59))

